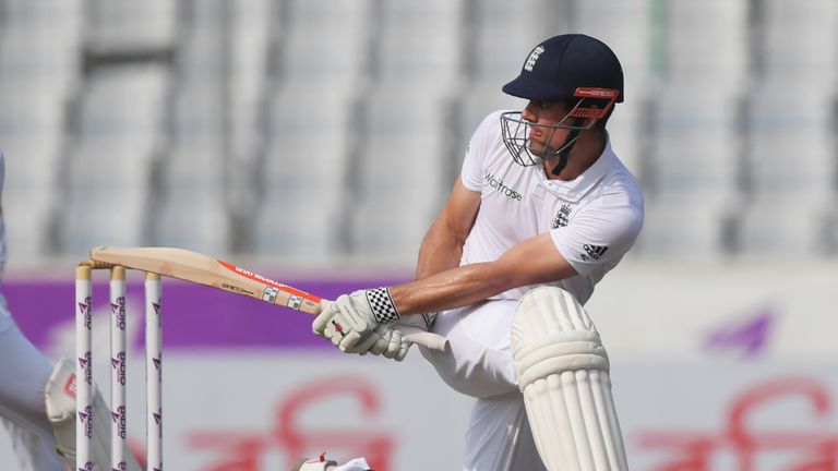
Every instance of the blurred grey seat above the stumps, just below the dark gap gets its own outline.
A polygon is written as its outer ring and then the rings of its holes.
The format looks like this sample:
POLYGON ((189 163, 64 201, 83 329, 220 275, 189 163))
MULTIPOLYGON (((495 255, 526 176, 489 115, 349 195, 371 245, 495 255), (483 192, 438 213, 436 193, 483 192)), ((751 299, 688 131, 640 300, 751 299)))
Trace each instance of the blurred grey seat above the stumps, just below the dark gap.
POLYGON ((117 246, 148 240, 167 83, 168 71, 151 64, 101 71, 85 82, 79 130, 65 148, 62 252, 86 253, 93 240, 117 246))

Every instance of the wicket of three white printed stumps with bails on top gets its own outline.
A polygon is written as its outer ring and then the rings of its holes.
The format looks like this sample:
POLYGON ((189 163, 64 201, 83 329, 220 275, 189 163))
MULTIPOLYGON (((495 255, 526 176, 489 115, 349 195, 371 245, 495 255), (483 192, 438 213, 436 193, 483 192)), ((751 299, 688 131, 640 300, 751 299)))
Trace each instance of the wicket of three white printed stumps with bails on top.
MULTIPOLYGON (((110 269, 110 468, 127 469, 125 428, 125 268, 91 262, 75 270, 76 469, 93 470, 93 270, 110 269)), ((145 274, 146 469, 163 470, 163 351, 160 276, 145 274)), ((101 467, 104 463, 99 463, 101 467)))

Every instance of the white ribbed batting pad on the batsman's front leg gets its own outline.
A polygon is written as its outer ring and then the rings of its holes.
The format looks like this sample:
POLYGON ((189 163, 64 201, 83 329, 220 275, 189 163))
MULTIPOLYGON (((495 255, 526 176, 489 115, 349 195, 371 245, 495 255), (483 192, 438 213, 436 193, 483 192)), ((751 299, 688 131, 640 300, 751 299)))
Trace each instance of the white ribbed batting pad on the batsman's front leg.
POLYGON ((567 291, 522 297, 512 352, 532 436, 550 471, 628 469, 609 363, 594 323, 567 291))

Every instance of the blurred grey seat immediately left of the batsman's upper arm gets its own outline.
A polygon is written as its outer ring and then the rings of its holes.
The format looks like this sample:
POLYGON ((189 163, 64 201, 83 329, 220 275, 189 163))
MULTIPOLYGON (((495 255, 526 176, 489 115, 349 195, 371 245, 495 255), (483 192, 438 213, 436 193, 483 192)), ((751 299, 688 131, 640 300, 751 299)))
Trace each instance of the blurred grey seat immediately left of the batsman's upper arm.
POLYGON ((396 84, 382 84, 366 99, 351 250, 367 257, 416 254, 450 190, 443 130, 451 99, 396 84))

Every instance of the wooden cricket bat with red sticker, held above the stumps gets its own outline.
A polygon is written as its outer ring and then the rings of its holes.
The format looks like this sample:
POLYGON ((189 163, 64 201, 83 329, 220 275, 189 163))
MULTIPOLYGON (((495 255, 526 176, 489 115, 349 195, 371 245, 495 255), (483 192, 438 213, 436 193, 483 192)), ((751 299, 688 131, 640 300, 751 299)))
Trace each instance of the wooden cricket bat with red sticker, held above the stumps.
MULTIPOLYGON (((322 298, 262 275, 213 258, 175 247, 108 247, 91 250, 94 268, 113 265, 218 288, 236 294, 261 299, 309 314, 319 314, 322 298)), ((447 339, 417 327, 398 326, 405 338, 432 350, 445 351, 447 339)))

